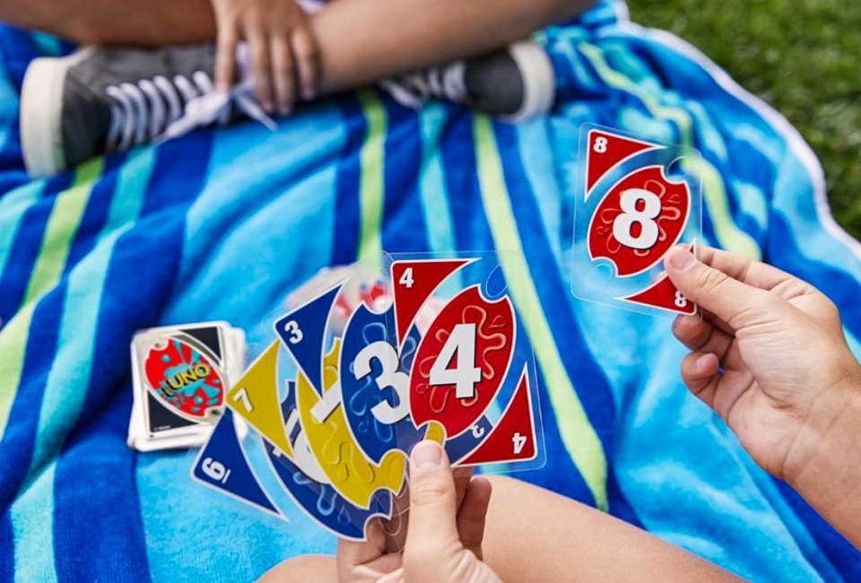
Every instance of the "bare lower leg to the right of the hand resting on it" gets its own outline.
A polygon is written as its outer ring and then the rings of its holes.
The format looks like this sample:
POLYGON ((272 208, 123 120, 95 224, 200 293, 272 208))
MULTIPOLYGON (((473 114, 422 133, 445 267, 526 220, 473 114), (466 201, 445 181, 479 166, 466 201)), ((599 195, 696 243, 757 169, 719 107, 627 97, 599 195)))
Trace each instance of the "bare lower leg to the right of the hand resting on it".
POLYGON ((473 57, 582 12, 593 0, 338 0, 312 18, 322 89, 473 57))

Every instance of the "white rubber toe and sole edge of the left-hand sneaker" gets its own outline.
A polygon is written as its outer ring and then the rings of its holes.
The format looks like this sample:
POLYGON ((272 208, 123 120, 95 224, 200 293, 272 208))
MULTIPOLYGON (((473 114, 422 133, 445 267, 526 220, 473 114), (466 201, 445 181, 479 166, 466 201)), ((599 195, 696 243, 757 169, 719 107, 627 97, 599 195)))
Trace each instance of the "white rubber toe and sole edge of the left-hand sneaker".
POLYGON ((63 84, 69 69, 86 58, 83 48, 68 57, 40 57, 27 67, 21 89, 21 148, 32 178, 65 170, 63 153, 63 84))

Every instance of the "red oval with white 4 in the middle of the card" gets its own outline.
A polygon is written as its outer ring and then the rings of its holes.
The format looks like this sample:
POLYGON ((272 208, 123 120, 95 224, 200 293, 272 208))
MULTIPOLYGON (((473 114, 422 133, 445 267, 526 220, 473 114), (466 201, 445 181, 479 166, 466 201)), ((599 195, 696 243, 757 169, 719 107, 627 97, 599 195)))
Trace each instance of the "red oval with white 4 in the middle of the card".
POLYGON ((482 416, 508 374, 514 318, 508 296, 485 300, 479 285, 448 302, 413 364, 410 412, 416 427, 439 422, 450 439, 482 416))

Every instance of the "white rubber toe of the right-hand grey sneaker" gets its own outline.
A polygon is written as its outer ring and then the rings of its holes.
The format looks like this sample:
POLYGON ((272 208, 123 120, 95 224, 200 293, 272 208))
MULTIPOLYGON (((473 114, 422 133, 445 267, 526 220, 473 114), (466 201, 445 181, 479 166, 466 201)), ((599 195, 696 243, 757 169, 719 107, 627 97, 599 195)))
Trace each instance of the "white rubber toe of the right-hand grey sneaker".
POLYGON ((523 121, 550 113, 556 100, 556 74, 544 48, 532 40, 523 40, 509 47, 509 54, 523 74, 523 103, 508 121, 523 121))

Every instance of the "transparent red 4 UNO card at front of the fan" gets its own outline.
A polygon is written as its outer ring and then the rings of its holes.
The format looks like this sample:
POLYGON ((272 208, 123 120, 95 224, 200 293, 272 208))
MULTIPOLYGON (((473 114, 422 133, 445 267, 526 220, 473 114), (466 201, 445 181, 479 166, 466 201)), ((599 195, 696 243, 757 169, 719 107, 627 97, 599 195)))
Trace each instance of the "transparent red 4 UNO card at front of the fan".
POLYGON ((528 315, 508 288, 517 265, 504 253, 390 256, 397 344, 402 352, 414 345, 410 419, 442 434, 455 466, 544 465, 528 315))

